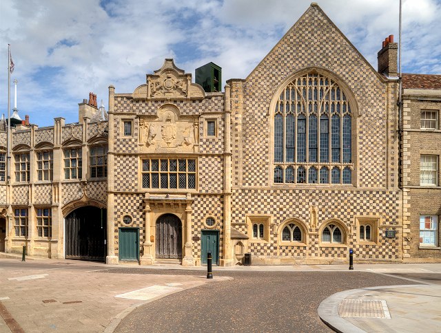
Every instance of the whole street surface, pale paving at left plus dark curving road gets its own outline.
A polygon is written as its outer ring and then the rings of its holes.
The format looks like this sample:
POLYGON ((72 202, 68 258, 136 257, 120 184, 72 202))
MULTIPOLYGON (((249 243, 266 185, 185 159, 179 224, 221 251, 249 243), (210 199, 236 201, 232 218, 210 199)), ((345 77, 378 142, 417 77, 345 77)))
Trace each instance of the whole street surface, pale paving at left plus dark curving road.
POLYGON ((0 259, 1 333, 10 319, 24 332, 113 332, 121 319, 116 332, 331 332, 317 312, 331 294, 441 283, 440 264, 216 267, 207 280, 203 268, 19 260, 0 259))

